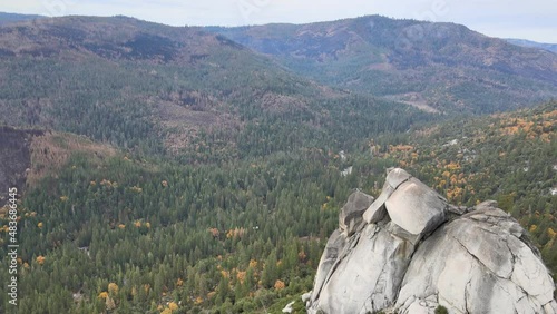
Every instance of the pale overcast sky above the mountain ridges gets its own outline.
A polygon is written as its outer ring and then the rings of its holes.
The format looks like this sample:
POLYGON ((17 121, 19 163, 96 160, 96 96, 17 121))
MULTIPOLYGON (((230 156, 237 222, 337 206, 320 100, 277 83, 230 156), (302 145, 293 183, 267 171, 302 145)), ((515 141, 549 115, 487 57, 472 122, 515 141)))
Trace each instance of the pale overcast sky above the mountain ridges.
POLYGON ((557 43, 557 0, 2 0, 0 11, 124 14, 172 26, 304 23, 382 14, 449 21, 492 37, 557 43))

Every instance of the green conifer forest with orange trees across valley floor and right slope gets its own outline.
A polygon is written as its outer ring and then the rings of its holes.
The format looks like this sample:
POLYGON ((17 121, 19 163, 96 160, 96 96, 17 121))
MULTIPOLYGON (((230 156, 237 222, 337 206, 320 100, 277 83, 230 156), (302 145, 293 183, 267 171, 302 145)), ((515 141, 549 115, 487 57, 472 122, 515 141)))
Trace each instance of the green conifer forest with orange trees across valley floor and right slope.
POLYGON ((20 204, 20 311, 280 311, 311 288, 348 195, 377 196, 391 166, 453 204, 499 200, 555 272, 556 127, 551 102, 361 138, 346 160, 317 147, 218 167, 75 154, 20 204))

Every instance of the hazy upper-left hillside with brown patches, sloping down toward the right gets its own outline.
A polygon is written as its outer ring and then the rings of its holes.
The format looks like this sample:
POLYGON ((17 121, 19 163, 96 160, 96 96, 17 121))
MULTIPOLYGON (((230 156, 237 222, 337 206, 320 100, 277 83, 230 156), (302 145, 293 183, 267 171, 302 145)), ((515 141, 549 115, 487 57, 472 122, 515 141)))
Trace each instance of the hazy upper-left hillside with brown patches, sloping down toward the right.
POLYGON ((194 28, 67 17, 1 27, 0 47, 0 124, 70 131, 143 154, 203 161, 226 150, 236 158, 254 154, 237 144, 256 141, 260 153, 306 145, 309 136, 293 143, 296 128, 339 146, 345 138, 332 129, 346 127, 338 126, 346 112, 369 135, 431 118, 317 85, 194 28), (400 120, 384 128, 387 115, 400 120), (275 145, 258 143, 262 135, 275 145), (197 156, 207 141, 212 150, 197 156))

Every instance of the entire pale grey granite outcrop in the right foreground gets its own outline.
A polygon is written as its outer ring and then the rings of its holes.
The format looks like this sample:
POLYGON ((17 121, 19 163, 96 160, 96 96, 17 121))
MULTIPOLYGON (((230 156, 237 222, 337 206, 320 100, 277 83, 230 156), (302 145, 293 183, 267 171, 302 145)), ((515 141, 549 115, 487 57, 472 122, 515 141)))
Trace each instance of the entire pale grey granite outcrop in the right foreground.
POLYGON ((557 313, 539 252, 495 202, 452 206, 393 169, 377 200, 355 192, 339 218, 309 313, 557 313))

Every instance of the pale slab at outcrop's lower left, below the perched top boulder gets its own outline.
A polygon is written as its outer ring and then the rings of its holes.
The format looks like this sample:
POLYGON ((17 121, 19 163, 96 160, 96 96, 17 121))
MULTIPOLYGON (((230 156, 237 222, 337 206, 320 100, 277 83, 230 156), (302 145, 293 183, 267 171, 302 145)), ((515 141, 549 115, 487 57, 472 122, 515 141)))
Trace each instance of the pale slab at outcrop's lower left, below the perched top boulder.
POLYGON ((413 246, 405 239, 368 225, 349 239, 321 288, 317 283, 314 286, 312 303, 319 306, 312 310, 368 313, 393 304, 412 253, 413 246))

